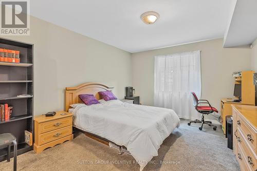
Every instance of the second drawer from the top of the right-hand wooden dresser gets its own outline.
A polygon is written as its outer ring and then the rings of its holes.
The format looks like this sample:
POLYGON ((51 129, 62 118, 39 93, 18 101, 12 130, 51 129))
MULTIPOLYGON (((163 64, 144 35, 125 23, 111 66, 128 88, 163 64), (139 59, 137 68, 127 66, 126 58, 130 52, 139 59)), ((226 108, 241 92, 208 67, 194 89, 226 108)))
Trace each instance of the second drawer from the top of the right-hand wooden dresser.
MULTIPOLYGON (((244 160, 246 161, 246 165, 249 168, 248 170, 255 170, 257 169, 257 159, 256 159, 256 155, 254 155, 252 153, 252 151, 250 150, 246 139, 243 137, 242 135, 242 131, 240 128, 237 129, 237 138, 238 138, 238 147, 241 147, 242 150, 242 158, 244 158, 244 160)), ((237 149, 239 151, 239 148, 237 149)), ((238 152, 239 153, 239 152, 238 152)))

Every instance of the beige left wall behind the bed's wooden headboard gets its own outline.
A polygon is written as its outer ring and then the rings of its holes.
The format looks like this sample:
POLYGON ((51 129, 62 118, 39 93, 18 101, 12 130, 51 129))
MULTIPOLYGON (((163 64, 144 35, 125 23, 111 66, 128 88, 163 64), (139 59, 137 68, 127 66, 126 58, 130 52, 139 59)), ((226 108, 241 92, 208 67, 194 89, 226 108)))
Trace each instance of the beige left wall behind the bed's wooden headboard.
POLYGON ((131 53, 31 16, 30 36, 5 36, 34 44, 34 113, 64 110, 65 87, 85 82, 114 86, 118 98, 131 86, 131 53))

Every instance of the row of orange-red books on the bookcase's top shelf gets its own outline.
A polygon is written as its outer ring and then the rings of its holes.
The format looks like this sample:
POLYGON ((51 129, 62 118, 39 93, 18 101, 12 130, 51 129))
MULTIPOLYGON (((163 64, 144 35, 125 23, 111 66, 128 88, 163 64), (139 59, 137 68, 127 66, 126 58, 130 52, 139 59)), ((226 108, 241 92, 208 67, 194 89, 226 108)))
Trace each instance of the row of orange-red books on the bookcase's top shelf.
POLYGON ((0 62, 20 63, 20 51, 0 48, 0 62))

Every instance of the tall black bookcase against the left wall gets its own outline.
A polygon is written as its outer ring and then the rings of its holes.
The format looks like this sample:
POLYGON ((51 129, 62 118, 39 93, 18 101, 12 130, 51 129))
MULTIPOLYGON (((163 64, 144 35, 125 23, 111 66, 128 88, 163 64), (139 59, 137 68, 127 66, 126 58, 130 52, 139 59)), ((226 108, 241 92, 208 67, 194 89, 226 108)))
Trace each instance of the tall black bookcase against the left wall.
MULTIPOLYGON (((0 104, 13 106, 11 118, 0 122, 0 134, 11 133, 16 137, 17 154, 20 155, 33 149, 25 143, 24 136, 25 130, 34 135, 33 45, 0 38, 0 48, 20 51, 21 63, 0 62, 0 104), (17 97, 20 94, 31 96, 17 97)), ((0 149, 0 161, 6 160, 6 157, 7 148, 0 149)))

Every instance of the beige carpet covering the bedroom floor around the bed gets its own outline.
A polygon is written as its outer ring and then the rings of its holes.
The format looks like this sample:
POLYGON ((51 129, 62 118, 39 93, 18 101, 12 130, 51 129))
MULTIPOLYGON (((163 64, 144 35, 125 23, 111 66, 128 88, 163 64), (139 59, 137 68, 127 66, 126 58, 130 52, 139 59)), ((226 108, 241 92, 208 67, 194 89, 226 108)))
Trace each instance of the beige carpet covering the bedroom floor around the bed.
MULTIPOLYGON (((159 156, 143 170, 239 170, 220 126, 213 131, 206 125, 200 131, 197 124, 188 126, 187 122, 181 120, 180 127, 161 145, 159 156)), ((41 154, 30 151, 18 156, 18 170, 139 170, 132 156, 119 156, 117 150, 81 133, 76 136, 74 140, 48 148, 41 154)), ((12 170, 12 162, 1 162, 0 170, 12 170)))

